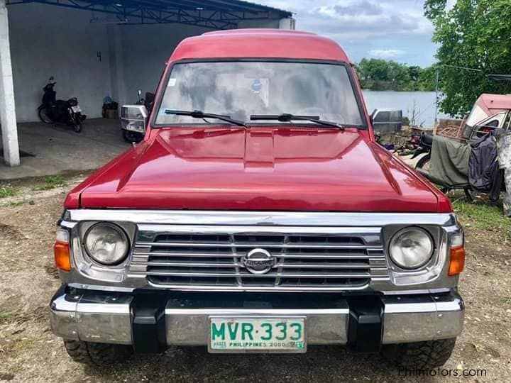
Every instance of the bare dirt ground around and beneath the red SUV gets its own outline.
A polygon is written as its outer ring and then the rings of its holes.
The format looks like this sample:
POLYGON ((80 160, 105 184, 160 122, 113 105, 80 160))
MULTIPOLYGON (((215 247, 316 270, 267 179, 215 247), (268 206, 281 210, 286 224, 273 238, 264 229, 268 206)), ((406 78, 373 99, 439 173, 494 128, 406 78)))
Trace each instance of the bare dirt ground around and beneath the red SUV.
MULTIPOLYGON (((484 369, 485 377, 402 378, 375 355, 309 347, 302 355, 210 355, 172 348, 100 369, 72 362, 48 323, 59 286, 53 267, 55 223, 67 186, 34 191, 15 184, 0 199, 0 380, 11 382, 511 382, 511 241, 466 227, 468 256, 460 290, 465 329, 445 369, 484 369)), ((1 185, 0 185, 1 186, 1 185)), ((462 222, 463 222, 463 217, 462 222)), ((418 323, 419 325, 419 323, 418 323)), ((452 374, 452 372, 451 372, 452 374)))

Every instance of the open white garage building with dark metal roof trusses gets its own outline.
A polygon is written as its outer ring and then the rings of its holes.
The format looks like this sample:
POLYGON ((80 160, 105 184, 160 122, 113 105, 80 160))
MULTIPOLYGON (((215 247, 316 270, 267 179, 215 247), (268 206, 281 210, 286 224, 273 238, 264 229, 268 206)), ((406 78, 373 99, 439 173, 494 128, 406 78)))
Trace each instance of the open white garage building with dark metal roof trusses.
POLYGON ((6 165, 20 163, 16 123, 38 121, 42 88, 76 96, 90 118, 105 96, 153 91, 183 38, 232 28, 294 29, 290 12, 239 0, 0 0, 0 122, 6 165))

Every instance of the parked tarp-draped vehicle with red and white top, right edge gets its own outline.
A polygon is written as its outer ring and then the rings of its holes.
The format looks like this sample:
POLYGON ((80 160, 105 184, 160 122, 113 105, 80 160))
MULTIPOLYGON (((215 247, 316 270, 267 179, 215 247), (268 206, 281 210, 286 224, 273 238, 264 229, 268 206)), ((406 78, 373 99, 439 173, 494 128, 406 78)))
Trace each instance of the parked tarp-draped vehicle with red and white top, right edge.
POLYGON ((414 157, 428 152, 416 169, 441 189, 490 194, 496 201, 502 184, 497 162, 497 135, 511 125, 511 95, 481 94, 461 126, 461 138, 423 135, 414 157))

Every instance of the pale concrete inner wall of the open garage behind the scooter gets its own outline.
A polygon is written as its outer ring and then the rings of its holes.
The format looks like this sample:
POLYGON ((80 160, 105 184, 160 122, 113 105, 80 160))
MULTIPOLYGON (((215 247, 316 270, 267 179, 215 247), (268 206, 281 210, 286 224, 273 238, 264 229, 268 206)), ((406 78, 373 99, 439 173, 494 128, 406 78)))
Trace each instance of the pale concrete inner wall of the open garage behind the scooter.
POLYGON ((90 23, 92 16, 87 11, 43 4, 9 6, 19 122, 38 121, 43 87, 52 75, 57 98, 77 97, 90 118, 101 116, 104 96, 116 96, 120 104, 135 102, 138 89, 155 90, 165 61, 183 38, 209 30, 180 24, 112 26, 90 23), (123 52, 119 61, 114 58, 115 28, 123 52), (123 66, 120 77, 116 63, 123 66), (121 94, 116 94, 118 82, 124 82, 121 94))

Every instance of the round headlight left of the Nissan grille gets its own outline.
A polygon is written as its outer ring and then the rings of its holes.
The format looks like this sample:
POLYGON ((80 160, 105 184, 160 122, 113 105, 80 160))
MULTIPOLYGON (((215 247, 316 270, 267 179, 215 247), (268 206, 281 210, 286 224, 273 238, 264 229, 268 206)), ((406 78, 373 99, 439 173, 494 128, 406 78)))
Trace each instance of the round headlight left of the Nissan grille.
POLYGON ((84 247, 92 260, 101 265, 119 265, 128 255, 128 237, 113 223, 96 223, 84 237, 84 247))

